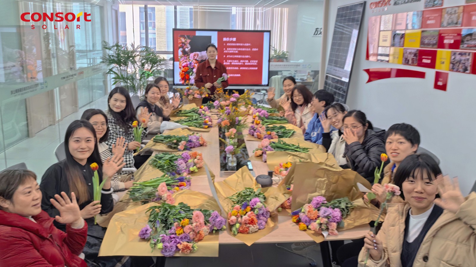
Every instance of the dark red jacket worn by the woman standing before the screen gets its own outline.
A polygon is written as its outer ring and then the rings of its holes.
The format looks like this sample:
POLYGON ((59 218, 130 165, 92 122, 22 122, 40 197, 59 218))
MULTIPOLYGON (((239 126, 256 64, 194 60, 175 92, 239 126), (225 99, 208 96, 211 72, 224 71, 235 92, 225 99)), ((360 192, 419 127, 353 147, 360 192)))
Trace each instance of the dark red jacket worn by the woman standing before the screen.
MULTIPOLYGON (((207 60, 203 61, 202 63, 198 64, 197 72, 195 74, 195 86, 201 88, 205 86, 205 84, 210 83, 213 84, 221 77, 224 73, 227 73, 227 68, 225 65, 218 62, 215 63, 215 68, 211 68, 210 62, 207 60)), ((223 89, 228 87, 228 79, 221 82, 221 86, 223 89)), ((213 95, 215 92, 215 86, 211 86, 209 88, 210 94, 213 95)))

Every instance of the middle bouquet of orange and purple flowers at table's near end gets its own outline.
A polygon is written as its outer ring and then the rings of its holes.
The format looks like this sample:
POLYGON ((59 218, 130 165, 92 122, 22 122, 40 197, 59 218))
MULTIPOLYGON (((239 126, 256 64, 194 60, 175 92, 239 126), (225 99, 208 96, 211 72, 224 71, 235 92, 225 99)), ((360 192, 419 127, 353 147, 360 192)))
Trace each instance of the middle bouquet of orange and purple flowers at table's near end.
POLYGON ((266 197, 261 189, 254 191, 248 187, 228 199, 233 201, 234 206, 228 212, 228 223, 234 235, 251 234, 266 227, 270 212, 264 205, 266 197))

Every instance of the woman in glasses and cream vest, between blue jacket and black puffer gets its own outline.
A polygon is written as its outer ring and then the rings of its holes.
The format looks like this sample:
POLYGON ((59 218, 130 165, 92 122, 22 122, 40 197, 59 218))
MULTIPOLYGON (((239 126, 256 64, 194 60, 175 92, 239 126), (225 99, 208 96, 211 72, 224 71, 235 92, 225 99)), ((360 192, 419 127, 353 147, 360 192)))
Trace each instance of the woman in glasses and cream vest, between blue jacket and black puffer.
POLYGON ((336 159, 339 166, 347 164, 346 155, 346 140, 342 133, 343 118, 347 114, 348 107, 346 104, 334 102, 328 105, 324 112, 319 116, 323 131, 322 145, 326 148, 327 153, 331 153, 336 159), (331 132, 331 127, 334 127, 335 131, 331 132))

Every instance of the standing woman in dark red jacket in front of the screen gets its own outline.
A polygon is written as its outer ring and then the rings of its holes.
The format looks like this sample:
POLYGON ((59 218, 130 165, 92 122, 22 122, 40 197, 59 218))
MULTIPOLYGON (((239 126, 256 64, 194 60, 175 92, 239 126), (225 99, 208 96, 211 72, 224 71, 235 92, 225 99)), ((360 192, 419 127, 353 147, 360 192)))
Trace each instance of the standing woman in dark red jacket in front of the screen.
MULTIPOLYGON (((201 88, 204 86, 210 90, 210 96, 215 93, 215 90, 222 87, 228 87, 228 74, 225 65, 217 60, 218 50, 214 44, 207 46, 208 59, 200 63, 195 74, 195 86, 201 88), (225 80, 217 83, 218 78, 224 76, 225 80)), ((205 97, 203 103, 207 103, 211 98, 205 97)))

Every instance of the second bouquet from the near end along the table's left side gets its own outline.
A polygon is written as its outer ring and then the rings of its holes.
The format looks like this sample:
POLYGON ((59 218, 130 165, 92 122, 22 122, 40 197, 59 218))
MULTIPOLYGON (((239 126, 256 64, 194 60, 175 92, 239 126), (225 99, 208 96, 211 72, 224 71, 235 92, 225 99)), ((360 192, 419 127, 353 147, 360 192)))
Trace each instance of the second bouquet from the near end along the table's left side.
POLYGON ((166 201, 168 196, 165 194, 165 191, 174 193, 189 189, 190 179, 189 175, 170 176, 169 174, 164 174, 149 181, 133 182, 134 185, 128 192, 129 197, 133 202, 141 201, 142 204, 149 203, 150 201, 166 201))

